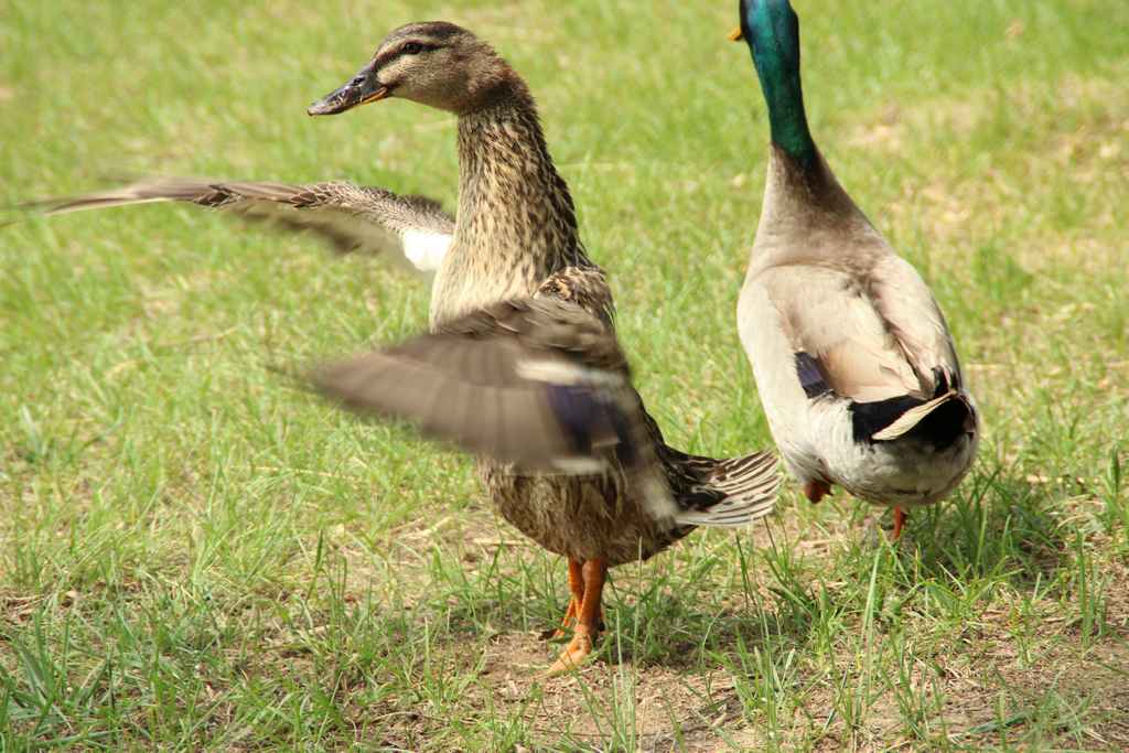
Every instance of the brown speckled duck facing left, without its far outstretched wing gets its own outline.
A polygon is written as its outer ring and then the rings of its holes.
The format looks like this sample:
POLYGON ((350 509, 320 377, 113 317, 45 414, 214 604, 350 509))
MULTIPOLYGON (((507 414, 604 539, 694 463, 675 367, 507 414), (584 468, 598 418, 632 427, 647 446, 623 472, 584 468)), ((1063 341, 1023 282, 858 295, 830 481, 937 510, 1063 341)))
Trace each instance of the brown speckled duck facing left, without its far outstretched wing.
POLYGON ((663 441, 630 386, 611 291, 580 243, 533 97, 493 49, 452 24, 401 27, 309 113, 390 98, 458 117, 458 211, 432 283, 431 334, 316 378, 353 408, 476 453, 502 517, 568 558, 575 632, 550 668, 560 672, 592 651, 609 567, 694 526, 768 514, 776 463, 663 441))

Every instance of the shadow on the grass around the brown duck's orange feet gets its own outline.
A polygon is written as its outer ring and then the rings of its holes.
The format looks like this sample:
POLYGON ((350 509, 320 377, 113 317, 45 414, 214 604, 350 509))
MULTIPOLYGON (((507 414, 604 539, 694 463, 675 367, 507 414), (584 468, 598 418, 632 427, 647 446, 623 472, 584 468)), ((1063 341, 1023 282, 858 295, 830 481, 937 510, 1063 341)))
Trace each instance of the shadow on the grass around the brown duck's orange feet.
MULTIPOLYGON (((735 553, 743 588, 736 594, 717 581, 714 569, 735 566, 725 548, 686 562, 668 561, 613 570, 604 590, 602 654, 611 664, 684 668, 701 665, 709 651, 738 641, 803 645, 820 606, 791 552, 781 550, 758 563, 755 576, 744 550, 735 553), (758 588, 759 581, 771 581, 758 588), (762 592, 767 592, 762 595, 762 592)), ((760 553, 756 554, 760 557, 760 553)), ((421 605, 443 625, 444 642, 488 638, 504 632, 545 633, 564 614, 564 570, 559 558, 530 550, 500 552, 467 575, 461 567, 432 568, 432 593, 421 605)), ((423 614, 417 613, 418 621, 423 614)), ((554 643, 545 639, 546 654, 554 643)))

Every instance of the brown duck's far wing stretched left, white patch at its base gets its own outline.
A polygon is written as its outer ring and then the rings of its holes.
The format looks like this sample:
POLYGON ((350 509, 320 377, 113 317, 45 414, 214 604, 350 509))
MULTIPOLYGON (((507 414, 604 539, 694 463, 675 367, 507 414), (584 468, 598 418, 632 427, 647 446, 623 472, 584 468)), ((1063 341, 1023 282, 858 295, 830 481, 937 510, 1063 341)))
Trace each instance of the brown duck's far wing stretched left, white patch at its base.
POLYGON ((287 185, 156 177, 26 207, 51 216, 163 201, 196 204, 287 230, 309 231, 339 253, 382 255, 422 273, 438 268, 455 231, 454 218, 431 199, 351 183, 287 185))

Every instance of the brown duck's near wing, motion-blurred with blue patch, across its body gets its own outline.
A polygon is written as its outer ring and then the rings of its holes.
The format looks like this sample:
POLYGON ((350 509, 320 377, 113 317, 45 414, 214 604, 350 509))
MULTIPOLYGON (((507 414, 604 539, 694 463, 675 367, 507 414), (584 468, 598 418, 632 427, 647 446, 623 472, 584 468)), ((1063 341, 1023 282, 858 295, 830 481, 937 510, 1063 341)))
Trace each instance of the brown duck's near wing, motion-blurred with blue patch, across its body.
POLYGON ((313 380, 353 410, 524 471, 622 469, 656 517, 675 511, 615 336, 575 303, 497 304, 313 380))

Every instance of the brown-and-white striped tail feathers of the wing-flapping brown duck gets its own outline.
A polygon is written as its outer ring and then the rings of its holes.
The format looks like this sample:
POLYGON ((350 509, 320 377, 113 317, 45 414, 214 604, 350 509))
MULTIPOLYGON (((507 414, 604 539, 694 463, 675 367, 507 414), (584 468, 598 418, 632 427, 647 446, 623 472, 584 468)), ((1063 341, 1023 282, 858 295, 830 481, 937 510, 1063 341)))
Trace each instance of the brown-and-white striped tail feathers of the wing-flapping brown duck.
POLYGON ((675 520, 683 525, 735 528, 776 507, 780 471, 770 452, 720 461, 677 453, 671 459, 680 475, 690 480, 685 492, 676 494, 675 520))

